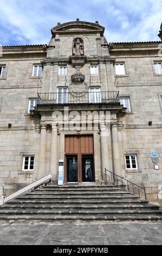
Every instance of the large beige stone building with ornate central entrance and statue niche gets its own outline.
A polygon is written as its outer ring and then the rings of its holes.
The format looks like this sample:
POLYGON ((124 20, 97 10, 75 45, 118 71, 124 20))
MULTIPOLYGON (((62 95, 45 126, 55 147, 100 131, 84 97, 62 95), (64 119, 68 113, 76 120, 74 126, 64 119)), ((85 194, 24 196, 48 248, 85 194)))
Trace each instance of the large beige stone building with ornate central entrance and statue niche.
MULTIPOLYGON (((3 46, 0 184, 5 194, 51 173, 104 184, 105 168, 162 190, 161 41, 109 43, 104 27, 51 29, 48 45, 3 46)), ((159 37, 161 39, 161 28, 159 37)), ((110 38, 108 39, 111 40, 110 38)), ((162 39, 161 39, 162 40, 162 39)))

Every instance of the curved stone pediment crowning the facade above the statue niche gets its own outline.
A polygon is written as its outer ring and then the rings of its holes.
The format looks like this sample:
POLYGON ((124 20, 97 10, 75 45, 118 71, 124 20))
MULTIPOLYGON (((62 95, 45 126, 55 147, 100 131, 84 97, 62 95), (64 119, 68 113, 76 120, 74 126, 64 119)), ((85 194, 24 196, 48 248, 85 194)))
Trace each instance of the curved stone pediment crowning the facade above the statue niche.
POLYGON ((60 24, 51 29, 52 35, 55 34, 66 34, 71 32, 96 32, 99 34, 104 33, 104 27, 100 26, 98 23, 91 23, 85 21, 71 21, 67 23, 60 24))

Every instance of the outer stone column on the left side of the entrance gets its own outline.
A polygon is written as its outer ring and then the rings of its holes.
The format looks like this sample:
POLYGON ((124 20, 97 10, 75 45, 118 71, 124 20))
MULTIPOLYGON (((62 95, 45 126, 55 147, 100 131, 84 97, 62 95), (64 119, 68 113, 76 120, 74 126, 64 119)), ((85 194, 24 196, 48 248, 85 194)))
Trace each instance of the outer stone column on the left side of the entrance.
POLYGON ((47 125, 41 125, 40 144, 39 144, 39 164, 38 164, 38 178, 46 173, 46 131, 47 125))

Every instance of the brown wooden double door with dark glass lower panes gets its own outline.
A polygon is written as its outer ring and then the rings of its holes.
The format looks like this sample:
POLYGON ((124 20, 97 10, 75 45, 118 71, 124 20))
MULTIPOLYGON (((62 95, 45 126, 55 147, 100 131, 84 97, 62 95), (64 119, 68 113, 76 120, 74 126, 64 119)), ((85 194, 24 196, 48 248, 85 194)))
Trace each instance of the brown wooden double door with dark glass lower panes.
POLYGON ((94 182, 94 138, 65 136, 65 182, 94 182))

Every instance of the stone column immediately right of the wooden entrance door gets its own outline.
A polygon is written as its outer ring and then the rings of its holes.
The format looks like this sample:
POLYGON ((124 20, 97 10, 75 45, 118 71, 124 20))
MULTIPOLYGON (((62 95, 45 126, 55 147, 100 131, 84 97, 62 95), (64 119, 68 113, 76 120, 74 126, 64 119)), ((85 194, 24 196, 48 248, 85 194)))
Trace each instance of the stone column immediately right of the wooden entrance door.
POLYGON ((102 160, 102 183, 105 180, 105 168, 109 170, 109 151, 108 151, 108 136, 109 131, 104 124, 100 125, 100 138, 101 138, 101 160, 102 160))

